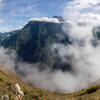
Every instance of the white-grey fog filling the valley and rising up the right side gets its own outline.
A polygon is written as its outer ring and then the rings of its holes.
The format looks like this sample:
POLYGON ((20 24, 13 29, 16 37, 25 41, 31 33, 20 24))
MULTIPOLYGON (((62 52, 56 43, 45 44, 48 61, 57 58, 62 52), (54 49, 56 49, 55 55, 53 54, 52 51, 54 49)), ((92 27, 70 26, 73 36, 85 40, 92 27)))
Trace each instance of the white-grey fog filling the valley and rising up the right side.
POLYGON ((100 78, 100 41, 93 35, 93 28, 100 26, 99 5, 98 0, 73 0, 65 4, 63 30, 71 44, 54 43, 51 50, 58 50, 59 57, 71 65, 71 72, 51 72, 49 68, 39 71, 39 63, 16 63, 16 53, 3 47, 0 48, 0 62, 13 70, 17 64, 26 80, 46 90, 69 93, 87 87, 100 78))

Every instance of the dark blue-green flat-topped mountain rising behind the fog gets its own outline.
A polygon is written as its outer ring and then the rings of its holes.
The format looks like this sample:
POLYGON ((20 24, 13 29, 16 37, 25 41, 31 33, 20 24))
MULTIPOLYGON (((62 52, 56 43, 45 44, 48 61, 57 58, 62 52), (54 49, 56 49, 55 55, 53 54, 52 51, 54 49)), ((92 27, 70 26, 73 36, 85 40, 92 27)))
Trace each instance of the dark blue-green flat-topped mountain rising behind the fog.
MULTIPOLYGON (((55 16, 55 18, 63 20, 62 17, 55 16)), ((69 70, 70 66, 61 62, 58 51, 55 51, 54 55, 51 50, 53 44, 67 45, 70 43, 62 27, 61 22, 31 20, 21 30, 13 32, 9 37, 3 39, 1 45, 16 50, 18 56, 24 61, 40 63, 41 69, 50 67, 63 71, 69 70)))

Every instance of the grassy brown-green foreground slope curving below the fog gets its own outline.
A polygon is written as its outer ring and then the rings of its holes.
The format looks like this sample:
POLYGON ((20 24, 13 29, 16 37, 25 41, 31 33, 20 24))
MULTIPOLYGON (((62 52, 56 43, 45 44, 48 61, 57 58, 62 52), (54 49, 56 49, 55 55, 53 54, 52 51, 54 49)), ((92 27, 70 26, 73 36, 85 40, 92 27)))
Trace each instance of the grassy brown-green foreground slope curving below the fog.
POLYGON ((87 89, 83 89, 76 93, 61 94, 52 93, 43 89, 30 86, 21 76, 12 71, 8 71, 0 64, 0 100, 1 96, 8 95, 9 100, 19 100, 16 98, 16 93, 13 91, 14 85, 18 83, 21 90, 24 92, 21 100, 99 100, 100 99, 100 85, 94 85, 87 89), (19 78, 20 77, 20 78, 19 78))

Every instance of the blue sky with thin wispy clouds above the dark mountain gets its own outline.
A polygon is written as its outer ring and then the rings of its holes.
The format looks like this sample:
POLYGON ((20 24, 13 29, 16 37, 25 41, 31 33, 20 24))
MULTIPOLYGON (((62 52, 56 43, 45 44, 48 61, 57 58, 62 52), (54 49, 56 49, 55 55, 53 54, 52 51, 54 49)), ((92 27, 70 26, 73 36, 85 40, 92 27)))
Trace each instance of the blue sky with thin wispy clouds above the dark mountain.
POLYGON ((69 0, 0 0, 0 32, 23 27, 31 18, 62 15, 69 0))

